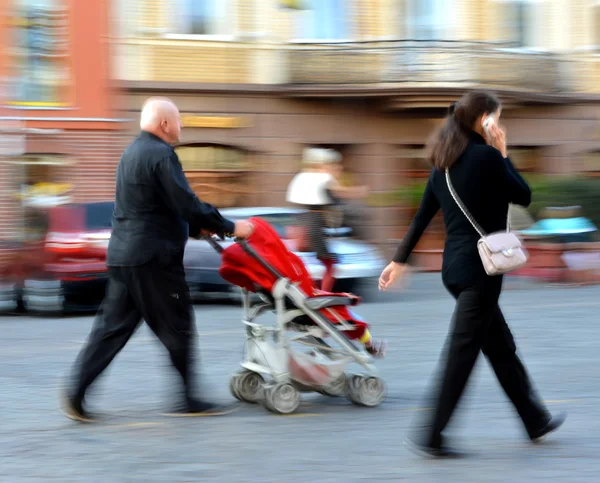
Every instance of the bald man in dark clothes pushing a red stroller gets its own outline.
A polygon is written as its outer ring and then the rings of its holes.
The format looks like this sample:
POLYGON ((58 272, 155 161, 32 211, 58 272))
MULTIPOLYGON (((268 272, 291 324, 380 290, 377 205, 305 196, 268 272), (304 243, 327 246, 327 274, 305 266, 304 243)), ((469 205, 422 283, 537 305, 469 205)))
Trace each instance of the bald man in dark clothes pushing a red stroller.
POLYGON ((165 98, 147 100, 140 128, 117 167, 106 296, 74 367, 72 387, 63 393, 63 411, 77 421, 92 420, 84 408, 86 391, 142 319, 167 348, 181 376, 183 397, 175 413, 223 413, 194 394, 196 332, 183 254, 190 236, 216 233, 247 238, 252 225, 224 219, 191 190, 172 147, 181 134, 175 104, 165 98))

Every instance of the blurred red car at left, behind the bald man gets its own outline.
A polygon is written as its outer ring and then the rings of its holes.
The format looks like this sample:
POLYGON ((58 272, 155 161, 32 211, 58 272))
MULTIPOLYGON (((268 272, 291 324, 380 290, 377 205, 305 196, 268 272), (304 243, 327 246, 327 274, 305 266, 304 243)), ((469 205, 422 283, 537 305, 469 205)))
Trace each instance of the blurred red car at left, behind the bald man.
POLYGON ((13 306, 31 312, 96 310, 106 287, 113 208, 113 202, 102 202, 38 210, 40 236, 12 250, 0 301, 12 291, 13 306))

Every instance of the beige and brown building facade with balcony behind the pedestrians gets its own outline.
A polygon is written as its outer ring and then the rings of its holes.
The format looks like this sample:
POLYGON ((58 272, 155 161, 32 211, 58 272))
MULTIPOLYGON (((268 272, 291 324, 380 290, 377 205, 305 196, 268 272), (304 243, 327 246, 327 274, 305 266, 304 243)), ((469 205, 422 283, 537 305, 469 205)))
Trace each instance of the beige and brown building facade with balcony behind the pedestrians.
MULTIPOLYGON (((521 169, 600 170, 595 1, 117 4, 120 117, 133 133, 147 96, 173 98, 184 168, 220 206, 285 204, 302 149, 330 146, 370 187, 373 239, 398 239, 429 171, 428 136, 476 87, 503 100, 521 169)), ((442 232, 437 220, 420 248, 442 232)))

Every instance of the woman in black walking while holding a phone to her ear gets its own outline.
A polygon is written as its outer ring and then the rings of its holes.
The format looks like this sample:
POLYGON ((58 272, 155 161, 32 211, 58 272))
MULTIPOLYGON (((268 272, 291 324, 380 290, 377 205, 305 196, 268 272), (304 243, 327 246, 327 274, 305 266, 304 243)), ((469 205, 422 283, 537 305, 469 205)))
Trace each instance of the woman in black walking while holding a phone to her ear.
POLYGON ((565 414, 552 417, 535 394, 498 306, 502 276, 486 274, 477 250, 480 235, 452 197, 445 176, 448 169, 456 195, 486 233, 506 230, 509 203, 530 204, 529 186, 507 156, 505 132, 498 127, 500 113, 498 99, 487 92, 470 92, 450 106, 448 117, 432 138, 429 159, 433 169, 421 205, 379 279, 380 290, 386 290, 403 278, 413 248, 441 209, 447 233, 442 280, 456 299, 456 308, 431 419, 422 435, 406 441, 412 449, 430 456, 457 455, 442 434, 480 351, 532 441, 556 430, 566 418, 565 414), (492 121, 489 128, 486 121, 492 121))

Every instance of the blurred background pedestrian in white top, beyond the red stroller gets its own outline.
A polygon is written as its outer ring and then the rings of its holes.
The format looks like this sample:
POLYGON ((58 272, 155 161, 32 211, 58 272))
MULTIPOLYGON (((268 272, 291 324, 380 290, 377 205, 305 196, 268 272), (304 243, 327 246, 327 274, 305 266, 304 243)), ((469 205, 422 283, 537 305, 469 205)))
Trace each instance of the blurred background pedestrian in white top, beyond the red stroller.
POLYGON ((333 149, 306 148, 303 153, 303 171, 288 186, 287 201, 305 207, 308 212, 301 220, 298 249, 316 253, 325 266, 321 290, 331 292, 335 284, 336 256, 329 250, 325 228, 340 217, 335 207, 345 199, 364 197, 365 187, 349 188, 340 184, 343 172, 342 156, 333 149))

